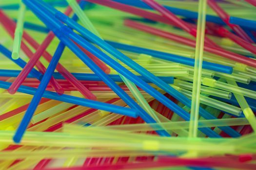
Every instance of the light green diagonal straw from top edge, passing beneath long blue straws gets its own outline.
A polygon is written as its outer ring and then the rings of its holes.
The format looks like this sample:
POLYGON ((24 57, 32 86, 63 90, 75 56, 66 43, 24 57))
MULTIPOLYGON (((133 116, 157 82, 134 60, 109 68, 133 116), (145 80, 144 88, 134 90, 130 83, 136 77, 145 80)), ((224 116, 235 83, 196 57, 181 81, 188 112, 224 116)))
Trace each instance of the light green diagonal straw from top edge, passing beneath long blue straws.
MULTIPOLYGON (((93 24, 91 23, 91 21, 89 20, 89 18, 84 14, 84 12, 82 11, 82 9, 79 7, 79 4, 76 2, 76 0, 67 0, 67 2, 69 3, 69 5, 71 6, 71 8, 75 11, 75 13, 77 14, 77 16, 79 17, 80 21, 83 23, 83 25, 89 30, 91 31, 93 34, 97 35, 98 37, 101 38, 101 36, 99 35, 98 31, 94 28, 93 24)), ((102 38, 101 38, 102 39, 102 38)), ((102 50, 102 49, 101 49, 102 50)), ((117 62, 118 60, 112 56, 111 54, 109 54, 108 52, 102 50, 104 53, 106 53, 107 55, 109 55, 111 58, 115 59, 117 62)), ((138 88, 136 87, 136 85, 134 83, 132 83, 130 80, 126 79, 124 76, 122 76, 121 74, 119 74, 119 76, 121 77, 121 79, 123 80, 123 82, 125 83, 125 85, 127 85, 127 87, 130 89, 130 91, 132 92, 132 94, 134 95, 135 99, 138 101, 139 105, 147 112, 149 113, 149 115, 155 119, 157 122, 160 122, 160 120, 158 119, 158 117, 155 115, 155 112, 153 111, 153 109, 150 107, 150 105, 148 104, 148 102, 144 99, 144 97, 142 96, 142 94, 139 92, 138 88)))

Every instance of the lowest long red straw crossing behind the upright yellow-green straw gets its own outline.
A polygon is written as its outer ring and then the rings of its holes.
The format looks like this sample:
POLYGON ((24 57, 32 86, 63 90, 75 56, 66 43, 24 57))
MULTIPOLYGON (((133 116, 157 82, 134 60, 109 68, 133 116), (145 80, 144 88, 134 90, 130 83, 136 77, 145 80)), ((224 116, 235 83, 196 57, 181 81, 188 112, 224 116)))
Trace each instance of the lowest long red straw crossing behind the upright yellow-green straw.
MULTIPOLYGON (((156 28, 147 26, 145 24, 138 23, 136 21, 126 20, 125 25, 129 26, 129 27, 132 27, 132 28, 136 28, 138 30, 142 30, 142 31, 151 33, 151 34, 162 36, 164 38, 172 39, 174 41, 180 42, 182 44, 186 44, 186 45, 191 46, 191 47, 195 47, 195 41, 194 40, 184 38, 182 36, 178 36, 178 35, 175 35, 175 34, 171 34, 169 32, 165 32, 165 31, 162 31, 160 29, 156 29, 156 28)), ((204 50, 208 51, 208 52, 211 52, 213 54, 217 54, 221 57, 225 57, 225 58, 228 58, 228 59, 246 64, 248 66, 252 66, 254 68, 256 67, 256 62, 255 62, 254 59, 247 58, 243 55, 239 55, 239 54, 236 54, 234 52, 222 50, 222 49, 216 48, 216 47, 210 47, 207 44, 205 44, 204 50)))

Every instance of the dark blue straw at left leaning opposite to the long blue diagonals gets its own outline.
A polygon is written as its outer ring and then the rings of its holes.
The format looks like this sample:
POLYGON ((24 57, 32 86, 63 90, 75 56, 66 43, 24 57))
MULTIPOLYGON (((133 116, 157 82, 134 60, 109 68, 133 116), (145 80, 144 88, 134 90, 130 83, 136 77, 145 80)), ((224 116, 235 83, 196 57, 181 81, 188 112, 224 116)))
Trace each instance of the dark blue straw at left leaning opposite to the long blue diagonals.
POLYGON ((27 109, 24 117, 22 118, 15 135, 13 136, 14 142, 20 143, 21 137, 23 136, 24 132, 26 131, 27 126, 28 126, 30 120, 32 119, 32 116, 34 115, 34 113, 38 107, 38 104, 43 96, 43 93, 44 93, 47 85, 50 82, 52 74, 59 62, 60 56, 61 56, 64 48, 65 48, 65 46, 61 45, 61 44, 57 47, 57 50, 55 51, 53 58, 43 75, 43 78, 39 84, 39 87, 38 87, 32 101, 29 104, 28 109, 27 109))

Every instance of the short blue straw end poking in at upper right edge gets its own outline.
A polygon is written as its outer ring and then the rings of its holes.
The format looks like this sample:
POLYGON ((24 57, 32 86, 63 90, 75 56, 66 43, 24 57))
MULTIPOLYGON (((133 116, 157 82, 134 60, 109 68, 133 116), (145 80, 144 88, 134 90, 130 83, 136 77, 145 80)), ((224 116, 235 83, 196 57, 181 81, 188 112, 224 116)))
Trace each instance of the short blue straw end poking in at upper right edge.
POLYGON ((256 20, 244 19, 239 17, 230 17, 229 22, 256 31, 256 20))

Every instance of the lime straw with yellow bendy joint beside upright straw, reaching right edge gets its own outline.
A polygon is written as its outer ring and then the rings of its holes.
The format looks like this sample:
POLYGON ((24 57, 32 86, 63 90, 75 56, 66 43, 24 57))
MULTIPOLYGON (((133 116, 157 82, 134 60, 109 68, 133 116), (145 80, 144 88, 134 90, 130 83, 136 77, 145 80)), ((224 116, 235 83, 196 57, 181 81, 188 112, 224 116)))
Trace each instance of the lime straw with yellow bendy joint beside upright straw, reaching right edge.
POLYGON ((202 84, 210 87, 215 87, 221 90, 230 91, 234 94, 242 94, 243 96, 247 96, 252 99, 256 99, 256 92, 253 90, 222 83, 222 82, 216 81, 215 79, 203 78, 202 84))

